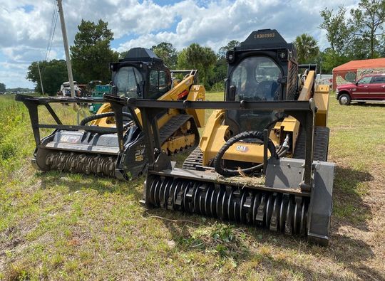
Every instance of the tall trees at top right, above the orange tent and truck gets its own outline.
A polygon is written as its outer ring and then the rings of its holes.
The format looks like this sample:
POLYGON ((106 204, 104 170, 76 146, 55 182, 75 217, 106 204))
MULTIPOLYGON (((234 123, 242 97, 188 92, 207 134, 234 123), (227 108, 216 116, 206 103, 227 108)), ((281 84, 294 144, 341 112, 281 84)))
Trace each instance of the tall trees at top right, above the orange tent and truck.
POLYGON ((341 5, 320 14, 324 21, 319 27, 330 44, 321 54, 327 71, 350 60, 385 57, 385 0, 361 0, 358 9, 341 5))

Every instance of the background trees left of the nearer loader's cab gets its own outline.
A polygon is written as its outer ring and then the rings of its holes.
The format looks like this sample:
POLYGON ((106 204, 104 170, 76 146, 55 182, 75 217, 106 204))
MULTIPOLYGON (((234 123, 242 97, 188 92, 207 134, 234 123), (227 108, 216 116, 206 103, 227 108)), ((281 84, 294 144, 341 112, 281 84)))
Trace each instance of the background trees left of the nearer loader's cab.
MULTIPOLYGON (((113 32, 108 29, 107 22, 101 19, 98 23, 81 21, 73 46, 70 47, 74 80, 78 83, 88 83, 91 80, 110 82, 108 63, 124 58, 128 52, 118 53, 111 50, 111 41, 113 32)), ((170 70, 197 69, 200 83, 204 84, 207 90, 222 90, 227 72, 226 51, 238 44, 238 41, 230 41, 217 53, 212 48, 200 46, 198 43, 192 43, 182 51, 177 51, 173 44, 168 42, 159 43, 150 49, 163 59, 170 70)), ((29 65, 26 78, 35 83, 36 92, 42 92, 42 82, 44 92, 55 95, 61 84, 68 80, 66 61, 35 61, 29 65)))

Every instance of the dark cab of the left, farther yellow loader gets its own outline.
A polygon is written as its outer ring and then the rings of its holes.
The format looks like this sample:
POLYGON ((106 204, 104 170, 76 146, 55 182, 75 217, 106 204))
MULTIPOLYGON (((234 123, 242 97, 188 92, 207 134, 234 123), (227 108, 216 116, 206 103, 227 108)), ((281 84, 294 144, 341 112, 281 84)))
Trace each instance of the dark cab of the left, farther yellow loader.
POLYGON ((113 94, 156 100, 171 88, 170 70, 148 48, 132 48, 111 63, 113 94))

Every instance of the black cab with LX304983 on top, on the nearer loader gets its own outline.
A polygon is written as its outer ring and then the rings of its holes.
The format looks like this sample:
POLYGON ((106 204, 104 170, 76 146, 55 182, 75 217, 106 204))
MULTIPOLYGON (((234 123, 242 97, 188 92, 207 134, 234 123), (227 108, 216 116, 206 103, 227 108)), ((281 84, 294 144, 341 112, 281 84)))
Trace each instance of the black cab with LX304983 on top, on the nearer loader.
MULTIPOLYGON (((282 101, 297 98, 297 54, 276 30, 253 31, 240 46, 226 54, 228 69, 225 100, 282 101)), ((267 129, 280 112, 227 110, 225 124, 233 135, 267 129)))

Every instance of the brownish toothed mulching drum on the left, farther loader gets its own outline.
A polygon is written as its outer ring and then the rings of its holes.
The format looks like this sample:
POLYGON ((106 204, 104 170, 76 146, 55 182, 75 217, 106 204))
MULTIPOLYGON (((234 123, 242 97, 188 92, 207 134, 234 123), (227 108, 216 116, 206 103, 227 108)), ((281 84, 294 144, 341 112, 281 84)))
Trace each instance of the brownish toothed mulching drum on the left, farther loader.
POLYGON ((77 154, 73 152, 50 152, 46 165, 51 170, 69 171, 71 173, 114 176, 116 157, 77 154))

